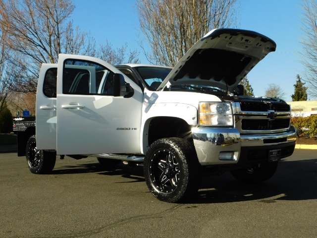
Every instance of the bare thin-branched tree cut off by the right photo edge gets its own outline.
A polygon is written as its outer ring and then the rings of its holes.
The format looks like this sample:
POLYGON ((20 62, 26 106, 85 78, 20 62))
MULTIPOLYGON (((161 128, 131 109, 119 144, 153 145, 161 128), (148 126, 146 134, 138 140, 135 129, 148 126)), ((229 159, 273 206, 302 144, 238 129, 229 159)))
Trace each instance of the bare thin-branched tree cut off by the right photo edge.
POLYGON ((308 92, 312 97, 317 97, 317 0, 303 0, 302 63, 306 68, 308 92))

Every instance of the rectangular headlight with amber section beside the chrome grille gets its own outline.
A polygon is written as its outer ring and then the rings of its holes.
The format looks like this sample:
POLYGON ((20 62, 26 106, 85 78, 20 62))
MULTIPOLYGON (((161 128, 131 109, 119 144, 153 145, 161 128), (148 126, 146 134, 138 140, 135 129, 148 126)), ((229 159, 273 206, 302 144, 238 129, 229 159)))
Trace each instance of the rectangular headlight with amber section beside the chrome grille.
POLYGON ((233 126, 230 103, 199 103, 199 123, 203 126, 233 126))

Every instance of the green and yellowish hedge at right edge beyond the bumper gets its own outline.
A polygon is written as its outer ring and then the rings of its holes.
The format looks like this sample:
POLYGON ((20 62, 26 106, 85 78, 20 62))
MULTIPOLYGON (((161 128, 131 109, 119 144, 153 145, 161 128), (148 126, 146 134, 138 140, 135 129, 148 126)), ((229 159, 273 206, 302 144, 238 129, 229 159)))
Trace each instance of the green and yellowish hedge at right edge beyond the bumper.
POLYGON ((295 126, 299 137, 317 136, 317 115, 307 118, 292 118, 291 124, 295 126))

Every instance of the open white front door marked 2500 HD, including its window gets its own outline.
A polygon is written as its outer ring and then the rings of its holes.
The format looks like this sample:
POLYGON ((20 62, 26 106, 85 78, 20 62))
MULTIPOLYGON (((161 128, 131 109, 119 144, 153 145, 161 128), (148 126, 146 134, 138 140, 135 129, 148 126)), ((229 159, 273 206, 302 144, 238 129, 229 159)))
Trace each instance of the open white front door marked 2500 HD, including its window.
POLYGON ((113 97, 111 82, 114 73, 120 71, 103 60, 59 55, 57 154, 141 151, 142 91, 125 77, 134 88, 133 97, 113 97), (71 63, 77 72, 71 72, 71 63), (87 72, 87 67, 94 67, 94 70, 91 68, 87 72))

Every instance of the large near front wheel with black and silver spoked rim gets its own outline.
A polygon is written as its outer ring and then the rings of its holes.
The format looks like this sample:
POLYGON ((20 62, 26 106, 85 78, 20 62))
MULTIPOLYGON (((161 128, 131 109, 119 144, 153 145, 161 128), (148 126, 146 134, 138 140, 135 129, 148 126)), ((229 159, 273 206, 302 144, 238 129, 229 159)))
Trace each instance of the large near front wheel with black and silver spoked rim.
POLYGON ((152 194, 161 201, 192 197, 201 180, 194 146, 182 138, 155 141, 144 159, 144 177, 152 194))

